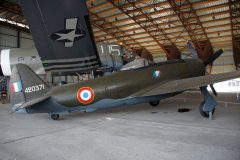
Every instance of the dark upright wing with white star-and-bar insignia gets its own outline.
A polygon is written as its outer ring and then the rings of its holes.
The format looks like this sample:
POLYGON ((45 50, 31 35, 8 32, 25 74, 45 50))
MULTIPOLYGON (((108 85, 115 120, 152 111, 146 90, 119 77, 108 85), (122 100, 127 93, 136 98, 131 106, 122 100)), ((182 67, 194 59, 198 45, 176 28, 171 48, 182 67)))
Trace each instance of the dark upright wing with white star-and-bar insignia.
POLYGON ((86 72, 100 65, 85 0, 20 0, 45 71, 86 72))

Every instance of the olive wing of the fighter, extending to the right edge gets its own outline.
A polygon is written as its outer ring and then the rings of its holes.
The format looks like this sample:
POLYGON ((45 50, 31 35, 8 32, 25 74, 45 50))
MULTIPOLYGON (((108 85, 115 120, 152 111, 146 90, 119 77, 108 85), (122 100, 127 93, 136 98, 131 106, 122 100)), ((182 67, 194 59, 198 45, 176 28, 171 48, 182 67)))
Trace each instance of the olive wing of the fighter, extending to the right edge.
POLYGON ((217 83, 217 82, 221 82, 221 81, 225 81, 225 80, 229 80, 237 77, 240 77, 240 71, 178 79, 178 80, 172 80, 166 83, 159 82, 157 84, 154 84, 148 88, 145 88, 133 94, 132 97, 153 96, 153 95, 180 92, 180 91, 185 91, 189 89, 194 89, 196 87, 207 86, 213 83, 217 83))

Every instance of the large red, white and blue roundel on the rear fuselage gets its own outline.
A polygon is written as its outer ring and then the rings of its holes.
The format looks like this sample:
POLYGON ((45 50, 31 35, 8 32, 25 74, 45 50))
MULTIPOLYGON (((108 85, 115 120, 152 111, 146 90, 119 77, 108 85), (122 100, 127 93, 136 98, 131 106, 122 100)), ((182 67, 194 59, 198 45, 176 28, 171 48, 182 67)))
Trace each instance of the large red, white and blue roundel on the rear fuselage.
POLYGON ((77 92, 77 99, 82 104, 89 104, 94 99, 94 92, 90 87, 82 87, 77 92))

